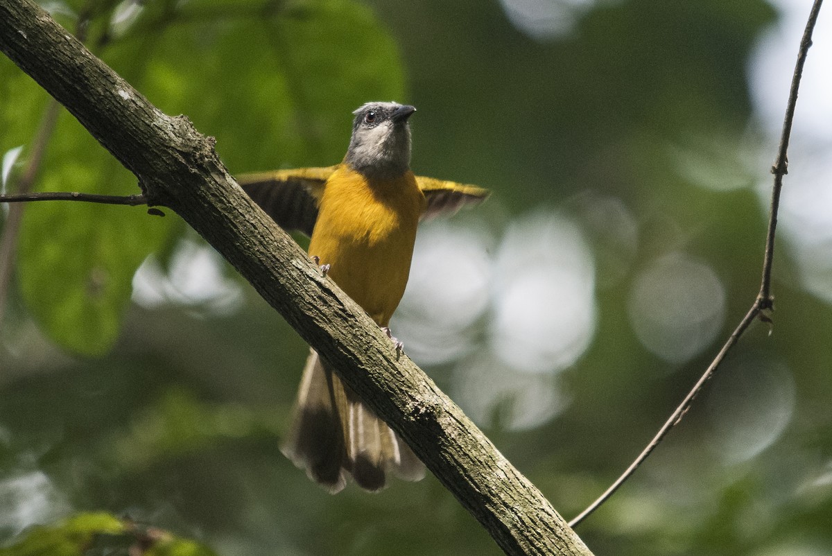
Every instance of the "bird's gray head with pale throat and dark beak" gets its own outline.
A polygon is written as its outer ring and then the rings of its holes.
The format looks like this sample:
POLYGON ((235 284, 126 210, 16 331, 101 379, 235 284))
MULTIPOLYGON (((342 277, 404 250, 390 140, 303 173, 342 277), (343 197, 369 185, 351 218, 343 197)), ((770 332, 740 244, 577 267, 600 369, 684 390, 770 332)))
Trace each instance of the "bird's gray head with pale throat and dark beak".
POLYGON ((353 137, 344 162, 365 176, 392 178, 410 167, 410 126, 416 112, 396 102, 368 102, 353 112, 353 137))

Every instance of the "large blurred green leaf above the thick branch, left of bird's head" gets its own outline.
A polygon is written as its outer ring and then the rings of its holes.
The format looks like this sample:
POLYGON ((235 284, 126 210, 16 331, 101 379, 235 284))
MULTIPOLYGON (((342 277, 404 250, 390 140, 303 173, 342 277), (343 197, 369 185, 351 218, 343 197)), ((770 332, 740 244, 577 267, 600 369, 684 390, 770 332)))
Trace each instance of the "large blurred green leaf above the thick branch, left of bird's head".
POLYGON ((215 136, 232 171, 328 166, 344 156, 350 112, 403 97, 398 49, 358 3, 268 5, 208 2, 206 19, 205 5, 187 4, 147 46, 141 91, 215 136))

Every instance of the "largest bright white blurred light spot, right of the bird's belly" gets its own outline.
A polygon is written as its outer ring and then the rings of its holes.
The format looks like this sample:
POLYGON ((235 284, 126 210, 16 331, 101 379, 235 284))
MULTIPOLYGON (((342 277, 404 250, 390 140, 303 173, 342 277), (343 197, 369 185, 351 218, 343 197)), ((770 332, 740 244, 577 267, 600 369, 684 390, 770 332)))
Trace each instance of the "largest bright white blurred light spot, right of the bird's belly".
POLYGON ((572 221, 540 212, 509 226, 497 255, 491 325, 497 355, 515 370, 574 365, 596 326, 595 264, 572 221))

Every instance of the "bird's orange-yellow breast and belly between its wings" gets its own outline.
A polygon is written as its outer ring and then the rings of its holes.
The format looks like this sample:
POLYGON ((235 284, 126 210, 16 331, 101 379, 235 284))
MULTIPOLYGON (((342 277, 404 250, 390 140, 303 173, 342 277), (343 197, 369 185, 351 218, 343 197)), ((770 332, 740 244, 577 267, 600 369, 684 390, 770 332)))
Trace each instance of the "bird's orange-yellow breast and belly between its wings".
POLYGON ((324 186, 310 256, 381 326, 404 294, 424 204, 410 171, 381 182, 342 165, 324 186))

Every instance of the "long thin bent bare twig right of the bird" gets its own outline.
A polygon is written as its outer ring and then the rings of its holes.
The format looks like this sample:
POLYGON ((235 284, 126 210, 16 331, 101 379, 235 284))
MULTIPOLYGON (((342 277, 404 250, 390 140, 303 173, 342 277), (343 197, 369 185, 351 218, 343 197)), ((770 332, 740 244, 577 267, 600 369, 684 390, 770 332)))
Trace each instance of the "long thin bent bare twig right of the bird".
POLYGON ((762 283, 760 284, 760 293, 757 295, 757 298, 754 300, 754 303, 751 305, 750 310, 748 313, 745 314, 742 320, 740 320, 740 324, 737 325, 736 329, 731 333, 728 340, 726 341, 725 345, 722 346, 720 352, 716 355, 713 361, 711 361, 711 365, 708 365, 707 370, 701 376, 701 378, 696 382, 693 389, 685 396, 685 399, 682 400, 681 404, 676 407, 676 410, 670 416, 669 419, 666 420, 665 424, 662 425, 659 432, 656 433, 656 436, 650 441, 650 444, 647 444, 646 448, 638 455, 635 461, 630 464, 630 467, 624 471, 624 473, 616 479, 616 481, 607 489, 604 494, 598 497, 592 504, 590 504, 587 509, 583 510, 581 514, 578 514, 577 517, 572 519, 569 522, 569 526, 572 528, 577 527, 578 524, 587 518, 592 512, 594 512, 598 507, 601 506, 604 502, 609 499, 612 494, 616 492, 616 490, 624 484, 626 479, 629 479, 630 476, 638 469, 638 467, 647 459, 647 456, 651 454, 653 449, 661 442, 662 439, 665 438, 666 434, 679 424, 682 417, 685 416, 688 410, 691 409, 691 405, 693 404, 693 400, 696 399, 696 395, 702 390, 702 387, 705 383, 711 379, 711 376, 716 372, 716 369, 722 363, 722 360, 725 359, 728 351, 740 340, 740 336, 745 333, 745 330, 754 322, 755 319, 760 318, 763 320, 769 320, 768 317, 765 315, 766 310, 770 310, 773 306, 773 298, 771 297, 771 265, 772 261, 774 260, 774 252, 775 252, 775 229, 777 227, 777 211, 780 207, 780 190, 783 187, 783 176, 788 173, 788 157, 786 151, 789 148, 789 138, 791 137, 791 125, 795 118, 795 107, 797 106, 797 92, 800 88, 800 77, 803 75, 803 66, 806 61, 806 55, 809 52, 809 47, 812 45, 812 32, 815 30, 815 22, 817 22, 818 14, 820 13, 820 4, 823 3, 823 0, 815 0, 815 3, 812 5, 812 10, 809 14, 809 21, 806 22, 806 28, 803 33, 803 39, 800 41, 800 51, 797 55, 797 63, 795 65, 795 74, 791 80, 791 88, 789 92, 789 102, 786 106, 785 111, 785 121, 783 122, 783 132, 780 136, 780 149, 777 153, 777 158, 775 160, 774 166, 771 167, 771 172, 775 175, 775 183, 774 187, 772 188, 771 192, 771 210, 769 216, 769 228, 768 233, 765 238, 765 256, 763 259, 763 277, 762 283))

